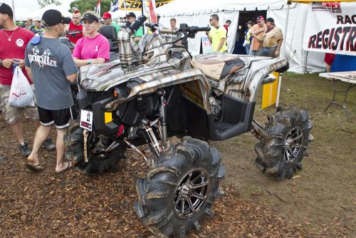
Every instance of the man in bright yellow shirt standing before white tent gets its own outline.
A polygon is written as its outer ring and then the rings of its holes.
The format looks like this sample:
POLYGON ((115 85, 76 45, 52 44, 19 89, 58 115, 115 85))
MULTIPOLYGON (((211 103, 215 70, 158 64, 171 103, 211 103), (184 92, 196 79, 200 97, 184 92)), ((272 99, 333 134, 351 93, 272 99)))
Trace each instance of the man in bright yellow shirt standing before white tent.
POLYGON ((212 27, 210 31, 206 31, 206 36, 209 38, 213 51, 227 52, 226 29, 219 25, 219 16, 213 14, 209 21, 212 27))

